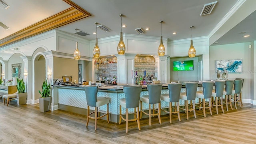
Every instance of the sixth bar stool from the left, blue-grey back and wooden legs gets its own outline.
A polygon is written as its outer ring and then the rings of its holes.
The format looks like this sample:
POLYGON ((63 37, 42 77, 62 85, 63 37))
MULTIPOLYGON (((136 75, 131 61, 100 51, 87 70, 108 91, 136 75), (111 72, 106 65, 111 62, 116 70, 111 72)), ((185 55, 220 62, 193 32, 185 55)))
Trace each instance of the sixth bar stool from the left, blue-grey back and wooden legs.
POLYGON ((202 108, 204 112, 204 117, 206 117, 205 109, 209 108, 210 114, 212 115, 212 104, 211 104, 211 98, 212 98, 212 89, 213 89, 213 82, 203 82, 203 91, 196 92, 196 97, 199 99, 199 106, 198 108, 202 108), (201 99, 203 99, 203 106, 201 106, 201 99), (209 99, 209 103, 206 104, 205 99, 209 99), (208 107, 205 107, 205 105, 208 105, 208 107))

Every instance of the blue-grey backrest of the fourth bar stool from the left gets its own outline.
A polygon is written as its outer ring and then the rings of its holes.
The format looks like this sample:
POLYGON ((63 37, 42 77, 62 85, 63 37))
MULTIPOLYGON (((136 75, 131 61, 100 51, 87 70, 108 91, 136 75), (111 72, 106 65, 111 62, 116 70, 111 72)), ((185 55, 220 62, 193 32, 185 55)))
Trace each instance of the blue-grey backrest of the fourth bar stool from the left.
POLYGON ((169 90, 169 100, 170 102, 179 102, 180 101, 180 90, 182 84, 168 84, 169 90))

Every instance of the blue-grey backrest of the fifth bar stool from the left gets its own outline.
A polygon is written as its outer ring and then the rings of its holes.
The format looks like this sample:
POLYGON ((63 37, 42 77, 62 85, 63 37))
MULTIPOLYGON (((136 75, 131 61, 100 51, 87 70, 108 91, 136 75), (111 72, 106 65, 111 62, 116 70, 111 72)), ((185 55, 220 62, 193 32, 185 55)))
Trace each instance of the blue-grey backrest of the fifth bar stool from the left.
POLYGON ((196 91, 198 87, 198 82, 187 82, 186 83, 186 96, 187 100, 195 100, 196 99, 196 91))

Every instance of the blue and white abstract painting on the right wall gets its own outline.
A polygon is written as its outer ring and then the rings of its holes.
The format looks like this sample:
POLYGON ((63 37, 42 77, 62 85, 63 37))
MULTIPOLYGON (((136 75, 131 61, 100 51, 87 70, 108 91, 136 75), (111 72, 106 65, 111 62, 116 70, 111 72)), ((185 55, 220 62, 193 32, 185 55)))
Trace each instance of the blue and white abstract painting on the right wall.
POLYGON ((216 72, 242 72, 242 59, 238 60, 216 60, 216 72))

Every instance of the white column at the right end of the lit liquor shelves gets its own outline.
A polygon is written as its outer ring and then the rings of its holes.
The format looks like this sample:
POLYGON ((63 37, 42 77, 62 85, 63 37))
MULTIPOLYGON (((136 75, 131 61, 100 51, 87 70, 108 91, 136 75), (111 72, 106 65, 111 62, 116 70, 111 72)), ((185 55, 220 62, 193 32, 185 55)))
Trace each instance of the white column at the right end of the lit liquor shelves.
POLYGON ((168 55, 165 55, 154 56, 154 58, 158 66, 158 70, 156 73, 157 80, 160 80, 161 83, 170 82, 170 60, 168 60, 170 59, 170 57, 168 55))

